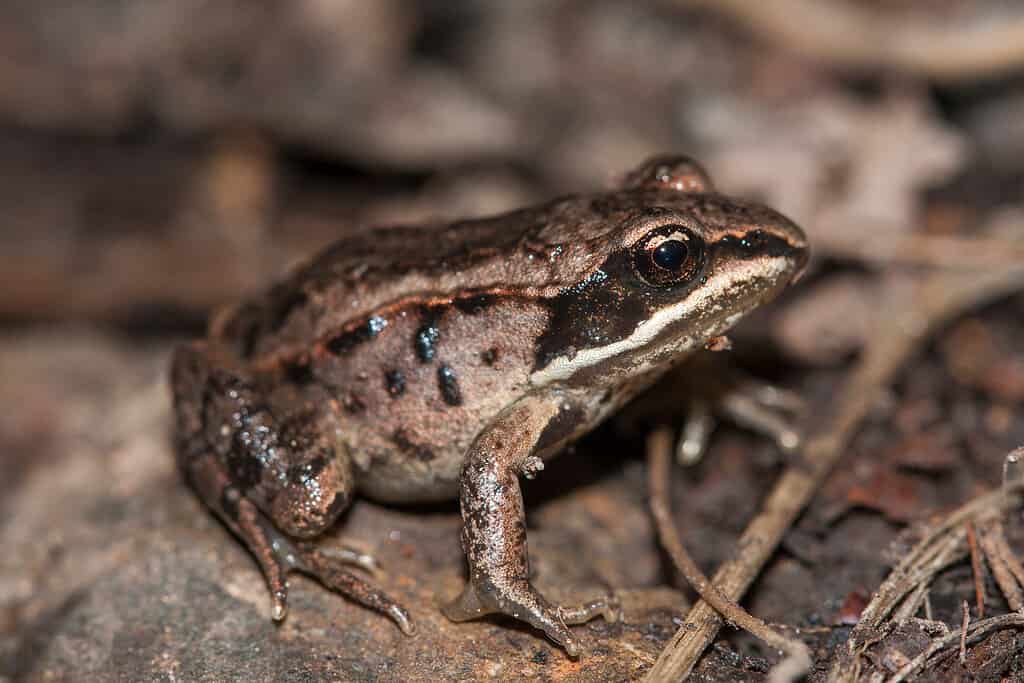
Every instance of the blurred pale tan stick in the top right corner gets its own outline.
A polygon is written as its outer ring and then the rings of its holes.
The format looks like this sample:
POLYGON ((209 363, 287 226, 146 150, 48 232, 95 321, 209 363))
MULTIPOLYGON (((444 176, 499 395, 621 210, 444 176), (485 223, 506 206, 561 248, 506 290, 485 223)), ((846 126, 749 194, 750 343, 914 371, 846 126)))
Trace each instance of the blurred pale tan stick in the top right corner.
POLYGON ((944 81, 1009 73, 1024 63, 1024 16, 894 22, 826 0, 685 0, 728 14, 777 45, 846 68, 898 69, 944 81), (794 20, 794 17, 800 20, 794 20))

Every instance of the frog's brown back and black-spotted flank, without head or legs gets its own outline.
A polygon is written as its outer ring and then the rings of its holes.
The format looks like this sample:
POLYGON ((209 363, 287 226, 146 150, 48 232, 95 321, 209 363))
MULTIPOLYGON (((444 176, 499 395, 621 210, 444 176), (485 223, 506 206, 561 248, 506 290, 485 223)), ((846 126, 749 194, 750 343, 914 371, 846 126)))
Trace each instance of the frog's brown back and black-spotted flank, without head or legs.
POLYGON ((368 231, 222 314, 212 336, 272 378, 282 403, 298 389, 326 409, 364 493, 449 498, 472 439, 528 390, 545 298, 574 278, 545 229, 578 213, 570 199, 440 228, 368 231))

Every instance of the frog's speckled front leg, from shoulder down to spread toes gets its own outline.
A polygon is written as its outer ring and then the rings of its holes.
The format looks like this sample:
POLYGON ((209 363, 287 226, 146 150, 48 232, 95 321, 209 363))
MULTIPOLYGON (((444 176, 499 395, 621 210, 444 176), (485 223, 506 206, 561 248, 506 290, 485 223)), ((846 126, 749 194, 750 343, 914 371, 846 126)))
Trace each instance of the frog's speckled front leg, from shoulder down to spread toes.
POLYGON ((444 607, 456 622, 502 612, 544 631, 570 656, 580 646, 566 624, 603 615, 616 618, 611 598, 579 605, 555 605, 529 582, 526 521, 519 475, 532 478, 543 463, 535 452, 545 430, 559 428, 571 411, 557 397, 523 401, 480 434, 466 458, 460 480, 462 545, 469 563, 469 584, 444 607))

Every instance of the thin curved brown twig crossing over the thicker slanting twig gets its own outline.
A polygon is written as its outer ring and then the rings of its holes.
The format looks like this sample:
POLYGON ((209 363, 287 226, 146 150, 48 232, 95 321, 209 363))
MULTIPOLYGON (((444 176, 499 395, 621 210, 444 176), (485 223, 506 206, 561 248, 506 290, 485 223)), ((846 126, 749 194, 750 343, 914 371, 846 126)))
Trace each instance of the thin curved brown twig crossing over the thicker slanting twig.
MULTIPOLYGON (((786 658, 775 666, 769 675, 770 681, 795 681, 810 671, 811 654, 807 646, 772 630, 767 624, 752 615, 738 604, 729 600, 715 588, 708 577, 697 566, 686 551, 672 519, 669 497, 672 463, 672 432, 666 428, 656 429, 647 438, 647 477, 650 490, 650 512, 654 517, 657 536, 662 546, 669 553, 676 568, 686 578, 693 590, 710 605, 718 610, 730 624, 744 629, 769 647, 782 650, 786 658)), ((648 678, 650 681, 673 679, 648 678)))

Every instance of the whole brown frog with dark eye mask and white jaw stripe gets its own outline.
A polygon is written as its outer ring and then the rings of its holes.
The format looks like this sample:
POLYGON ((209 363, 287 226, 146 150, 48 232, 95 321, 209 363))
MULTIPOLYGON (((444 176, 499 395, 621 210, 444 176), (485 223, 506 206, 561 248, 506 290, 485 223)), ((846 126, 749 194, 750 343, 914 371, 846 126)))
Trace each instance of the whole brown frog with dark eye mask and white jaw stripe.
POLYGON ((361 496, 458 499, 468 579, 454 622, 499 613, 570 656, 613 620, 530 578, 521 479, 720 339, 803 271, 803 230, 719 193, 695 160, 651 158, 613 186, 501 215, 342 239, 216 311, 171 364, 176 459, 255 557, 285 618, 301 572, 390 617, 407 608, 314 540, 361 496))

